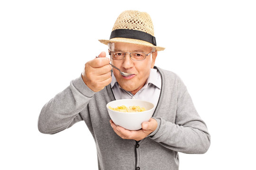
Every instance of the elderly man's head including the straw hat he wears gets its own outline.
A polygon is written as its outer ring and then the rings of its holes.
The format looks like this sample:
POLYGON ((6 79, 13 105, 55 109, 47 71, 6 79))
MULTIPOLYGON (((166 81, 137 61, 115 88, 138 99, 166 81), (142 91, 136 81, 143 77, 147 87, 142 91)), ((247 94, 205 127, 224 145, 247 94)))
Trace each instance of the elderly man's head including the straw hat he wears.
MULTIPOLYGON (((113 69, 119 85, 133 94, 137 93, 143 85, 150 73, 150 68, 154 67, 156 51, 162 51, 165 48, 156 46, 154 26, 151 17, 146 12, 136 10, 127 10, 122 12, 117 18, 110 40, 99 40, 108 45, 111 53, 111 62, 123 72, 132 73, 133 76, 124 77, 119 71, 113 69), (113 52, 126 53, 122 59, 113 57, 113 52), (131 52, 143 52, 131 55, 131 52), (136 57, 139 55, 140 57, 136 57)), ((120 53, 115 53, 119 55, 120 53)))

